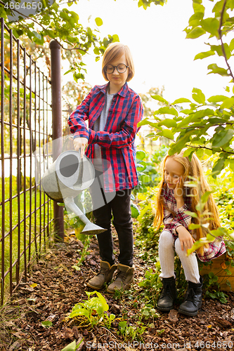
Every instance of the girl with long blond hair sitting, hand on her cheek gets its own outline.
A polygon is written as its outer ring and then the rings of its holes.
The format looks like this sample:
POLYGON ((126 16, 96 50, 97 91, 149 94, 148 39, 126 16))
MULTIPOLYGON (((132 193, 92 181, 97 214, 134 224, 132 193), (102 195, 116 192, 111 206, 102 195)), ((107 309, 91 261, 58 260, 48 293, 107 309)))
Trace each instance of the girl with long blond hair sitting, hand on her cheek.
MULTIPOLYGON (((202 164, 195 154, 191 161, 188 157, 183 157, 182 150, 173 156, 167 155, 162 161, 163 179, 159 185, 157 194, 157 208, 155 222, 157 229, 162 222, 164 229, 160 234, 159 256, 162 273, 163 289, 157 302, 157 309, 168 312, 173 308, 176 298, 176 276, 174 273, 174 250, 178 254, 183 265, 183 270, 188 281, 188 290, 183 303, 178 312, 188 316, 195 316, 202 305, 202 277, 200 277, 197 258, 195 253, 186 255, 187 249, 193 246, 193 242, 201 237, 206 237, 206 232, 201 228, 194 232, 188 230, 191 223, 191 216, 186 211, 197 213, 197 218, 193 218, 193 223, 199 223, 199 213, 195 206, 204 192, 210 191, 209 185, 204 178, 202 164), (200 194, 197 194, 197 187, 184 187, 185 180, 190 180, 191 176, 200 181, 200 194)), ((220 227, 218 208, 214 202, 212 194, 209 195, 207 204, 203 211, 212 213, 206 217, 209 229, 215 230, 220 227)), ((221 256, 226 252, 223 237, 206 244, 197 250, 197 256, 202 261, 209 261, 221 256)))

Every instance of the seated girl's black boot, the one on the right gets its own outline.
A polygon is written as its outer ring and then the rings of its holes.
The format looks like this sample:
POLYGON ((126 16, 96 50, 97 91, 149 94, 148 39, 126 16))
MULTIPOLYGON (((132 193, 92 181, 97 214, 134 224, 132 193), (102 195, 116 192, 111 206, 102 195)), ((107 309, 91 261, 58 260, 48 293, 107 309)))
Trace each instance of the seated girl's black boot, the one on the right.
POLYGON ((178 307, 178 312, 186 314, 186 316, 197 315, 198 310, 202 307, 202 283, 202 277, 200 277, 199 284, 188 282, 186 297, 180 307, 178 307))

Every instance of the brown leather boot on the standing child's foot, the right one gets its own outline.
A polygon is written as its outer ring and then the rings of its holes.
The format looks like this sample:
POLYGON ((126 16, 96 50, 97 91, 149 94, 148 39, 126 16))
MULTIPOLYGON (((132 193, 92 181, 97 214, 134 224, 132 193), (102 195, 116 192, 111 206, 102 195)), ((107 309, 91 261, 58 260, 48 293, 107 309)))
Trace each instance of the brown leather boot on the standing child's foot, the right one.
POLYGON ((116 277, 115 281, 108 286, 108 293, 115 293, 115 290, 119 289, 128 289, 130 284, 134 282, 134 268, 119 263, 116 277))

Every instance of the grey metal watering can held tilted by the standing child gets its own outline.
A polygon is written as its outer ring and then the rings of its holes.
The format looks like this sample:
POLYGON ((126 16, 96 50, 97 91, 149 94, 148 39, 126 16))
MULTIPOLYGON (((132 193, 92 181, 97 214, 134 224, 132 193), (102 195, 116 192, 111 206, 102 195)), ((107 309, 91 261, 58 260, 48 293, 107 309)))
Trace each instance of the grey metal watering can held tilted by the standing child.
POLYGON ((90 187, 95 178, 92 162, 86 155, 81 158, 80 151, 62 152, 41 178, 44 192, 56 202, 64 202, 85 224, 83 234, 93 235, 106 229, 91 223, 74 202, 74 197, 90 187))

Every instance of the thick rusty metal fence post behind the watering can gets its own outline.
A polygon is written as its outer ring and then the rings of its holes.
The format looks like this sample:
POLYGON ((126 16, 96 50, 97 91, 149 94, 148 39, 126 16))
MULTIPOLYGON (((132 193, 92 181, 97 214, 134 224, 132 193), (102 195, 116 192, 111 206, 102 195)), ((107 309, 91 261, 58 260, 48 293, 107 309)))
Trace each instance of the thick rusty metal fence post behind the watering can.
MULTIPOLYGON (((62 119, 62 88, 61 88, 61 48, 58 41, 50 42, 51 49, 51 88, 52 88, 52 138, 53 161, 62 150, 63 119, 62 119), (56 147, 55 147, 56 146, 56 147)), ((64 239, 63 207, 53 201, 54 230, 57 239, 64 239)))

